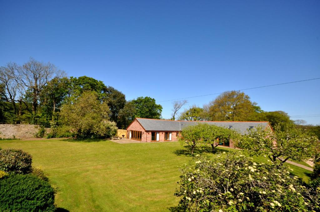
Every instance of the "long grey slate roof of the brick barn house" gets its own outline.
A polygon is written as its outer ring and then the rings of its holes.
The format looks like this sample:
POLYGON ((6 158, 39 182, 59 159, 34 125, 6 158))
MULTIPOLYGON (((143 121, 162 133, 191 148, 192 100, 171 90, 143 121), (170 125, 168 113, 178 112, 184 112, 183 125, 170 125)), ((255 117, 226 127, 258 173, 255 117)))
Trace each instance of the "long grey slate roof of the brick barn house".
POLYGON ((232 126, 231 129, 239 133, 246 133, 249 127, 267 127, 268 122, 236 122, 236 121, 170 121, 161 119, 148 119, 148 118, 137 118, 139 123, 146 131, 181 131, 183 128, 190 125, 197 125, 199 123, 206 123, 209 125, 217 125, 221 127, 228 128, 232 126))

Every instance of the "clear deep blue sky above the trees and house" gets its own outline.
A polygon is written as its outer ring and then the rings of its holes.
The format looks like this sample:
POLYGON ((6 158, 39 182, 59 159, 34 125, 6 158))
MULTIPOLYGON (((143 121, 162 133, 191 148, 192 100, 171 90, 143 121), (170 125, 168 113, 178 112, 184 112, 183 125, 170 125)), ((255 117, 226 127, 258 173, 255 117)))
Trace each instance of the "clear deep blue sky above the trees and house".
MULTIPOLYGON (((160 102, 320 77, 320 1, 1 1, 0 49, 0 65, 34 57, 160 102)), ((320 80, 245 93, 266 111, 320 114, 320 80)))

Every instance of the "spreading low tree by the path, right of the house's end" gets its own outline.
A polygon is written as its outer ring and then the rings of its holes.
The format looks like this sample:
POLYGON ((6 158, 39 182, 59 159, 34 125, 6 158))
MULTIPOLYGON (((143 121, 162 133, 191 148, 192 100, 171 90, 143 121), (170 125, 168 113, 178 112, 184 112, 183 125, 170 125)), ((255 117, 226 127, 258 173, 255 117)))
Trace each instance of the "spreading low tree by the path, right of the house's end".
POLYGON ((252 155, 268 155, 275 162, 282 163, 289 158, 303 161, 315 155, 316 136, 295 127, 293 124, 279 124, 274 131, 257 127, 236 140, 236 147, 247 149, 252 155))

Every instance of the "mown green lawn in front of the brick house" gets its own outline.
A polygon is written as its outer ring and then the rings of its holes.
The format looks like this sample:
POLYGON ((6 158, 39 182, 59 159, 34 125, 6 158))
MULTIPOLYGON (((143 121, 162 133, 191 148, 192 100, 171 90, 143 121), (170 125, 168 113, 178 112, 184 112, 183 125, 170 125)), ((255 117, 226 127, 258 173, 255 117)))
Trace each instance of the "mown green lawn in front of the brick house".
MULTIPOLYGON (((57 206, 69 211, 168 211, 179 201, 177 166, 190 160, 177 142, 1 140, 0 147, 30 153, 57 189, 57 206)), ((290 167, 308 181, 311 171, 290 167)))

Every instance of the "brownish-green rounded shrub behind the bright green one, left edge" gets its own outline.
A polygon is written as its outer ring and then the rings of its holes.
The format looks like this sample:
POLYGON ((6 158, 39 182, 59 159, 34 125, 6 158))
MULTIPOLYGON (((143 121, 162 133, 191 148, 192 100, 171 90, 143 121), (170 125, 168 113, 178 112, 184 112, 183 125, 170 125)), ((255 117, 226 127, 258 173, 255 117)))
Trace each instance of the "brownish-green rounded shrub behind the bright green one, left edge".
POLYGON ((32 156, 22 149, 1 149, 0 170, 7 173, 28 174, 31 172, 32 156))

